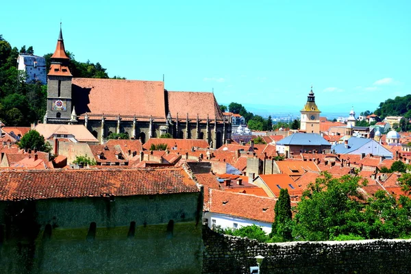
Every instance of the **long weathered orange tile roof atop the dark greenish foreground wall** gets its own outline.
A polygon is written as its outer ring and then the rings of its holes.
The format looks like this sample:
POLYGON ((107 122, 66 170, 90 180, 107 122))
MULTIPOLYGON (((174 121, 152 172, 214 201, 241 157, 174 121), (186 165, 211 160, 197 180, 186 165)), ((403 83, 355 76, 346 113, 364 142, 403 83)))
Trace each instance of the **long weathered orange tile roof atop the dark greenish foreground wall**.
POLYGON ((199 192, 184 169, 2 171, 0 200, 199 192))

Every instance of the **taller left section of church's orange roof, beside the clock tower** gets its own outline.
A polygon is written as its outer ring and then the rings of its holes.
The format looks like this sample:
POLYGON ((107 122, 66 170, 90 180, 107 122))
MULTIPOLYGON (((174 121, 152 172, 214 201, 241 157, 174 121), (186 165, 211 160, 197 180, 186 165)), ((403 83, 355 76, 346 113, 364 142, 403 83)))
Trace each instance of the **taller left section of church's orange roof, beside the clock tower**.
POLYGON ((73 78, 72 87, 77 115, 166 117, 164 83, 160 81, 73 78))

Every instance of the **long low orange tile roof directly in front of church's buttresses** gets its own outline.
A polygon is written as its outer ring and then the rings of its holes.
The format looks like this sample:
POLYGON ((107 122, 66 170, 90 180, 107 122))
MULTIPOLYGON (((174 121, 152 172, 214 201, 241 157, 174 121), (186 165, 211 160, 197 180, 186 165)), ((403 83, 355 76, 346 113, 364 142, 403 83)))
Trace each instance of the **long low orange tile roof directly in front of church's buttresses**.
MULTIPOLYGON (((168 139, 168 138, 149 138, 142 147, 149 150, 151 144, 159 145, 166 144, 167 149, 172 150, 187 150, 189 151, 192 147, 207 149, 210 147, 206 140, 196 140, 196 139, 168 139), (177 146, 177 147, 176 147, 177 146)), ((203 151, 203 155, 206 156, 206 151, 203 151)))

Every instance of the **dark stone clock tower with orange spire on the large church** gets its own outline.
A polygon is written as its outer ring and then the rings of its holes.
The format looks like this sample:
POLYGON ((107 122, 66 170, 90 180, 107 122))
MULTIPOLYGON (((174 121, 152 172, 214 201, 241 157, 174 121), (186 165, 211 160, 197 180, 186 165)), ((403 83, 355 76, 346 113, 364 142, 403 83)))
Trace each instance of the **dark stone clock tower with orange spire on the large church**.
POLYGON ((69 123, 71 120, 71 75, 70 58, 66 55, 62 26, 57 47, 51 55, 50 71, 47 74, 47 112, 44 123, 69 123))

